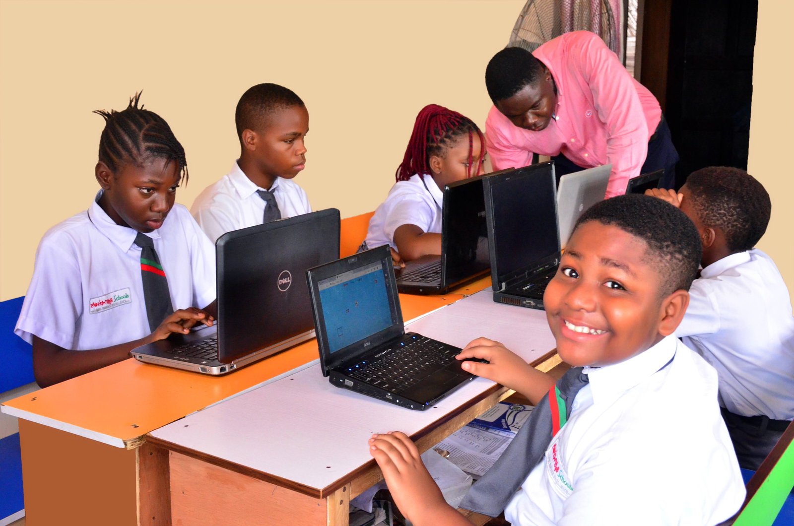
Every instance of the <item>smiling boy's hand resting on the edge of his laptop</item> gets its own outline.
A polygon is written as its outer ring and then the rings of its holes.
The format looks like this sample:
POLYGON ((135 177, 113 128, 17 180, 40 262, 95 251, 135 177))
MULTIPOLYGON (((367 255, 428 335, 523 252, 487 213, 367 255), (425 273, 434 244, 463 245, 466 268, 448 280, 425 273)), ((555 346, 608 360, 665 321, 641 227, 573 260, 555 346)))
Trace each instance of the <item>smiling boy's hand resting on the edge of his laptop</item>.
POLYGON ((519 392, 526 381, 526 375, 534 371, 518 354, 488 338, 473 340, 455 358, 458 360, 466 358, 488 360, 488 363, 463 362, 461 369, 519 392))

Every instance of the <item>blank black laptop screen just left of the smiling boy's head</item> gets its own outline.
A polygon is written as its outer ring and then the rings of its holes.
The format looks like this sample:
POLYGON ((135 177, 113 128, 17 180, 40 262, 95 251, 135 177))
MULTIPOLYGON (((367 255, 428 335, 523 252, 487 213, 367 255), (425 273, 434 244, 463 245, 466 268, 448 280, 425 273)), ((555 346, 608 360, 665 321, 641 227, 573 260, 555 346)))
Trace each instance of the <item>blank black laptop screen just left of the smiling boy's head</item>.
POLYGON ((559 253, 556 186, 552 163, 486 180, 491 271, 500 281, 559 253))

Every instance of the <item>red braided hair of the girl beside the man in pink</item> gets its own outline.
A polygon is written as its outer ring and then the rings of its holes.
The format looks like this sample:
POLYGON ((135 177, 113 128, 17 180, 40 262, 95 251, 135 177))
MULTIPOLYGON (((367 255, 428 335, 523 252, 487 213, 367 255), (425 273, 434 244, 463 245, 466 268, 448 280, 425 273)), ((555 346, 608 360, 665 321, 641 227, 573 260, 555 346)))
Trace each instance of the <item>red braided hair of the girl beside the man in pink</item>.
POLYGON ((428 104, 423 107, 416 116, 414 131, 410 133, 403 162, 395 174, 396 180, 407 181, 414 173, 420 176, 430 174, 430 157, 443 156, 464 133, 468 133, 468 176, 476 176, 480 173, 485 157, 485 137, 480 128, 472 122, 472 119, 464 117, 457 111, 448 110, 444 106, 428 104), (476 170, 472 172, 474 133, 480 137, 482 154, 476 170))

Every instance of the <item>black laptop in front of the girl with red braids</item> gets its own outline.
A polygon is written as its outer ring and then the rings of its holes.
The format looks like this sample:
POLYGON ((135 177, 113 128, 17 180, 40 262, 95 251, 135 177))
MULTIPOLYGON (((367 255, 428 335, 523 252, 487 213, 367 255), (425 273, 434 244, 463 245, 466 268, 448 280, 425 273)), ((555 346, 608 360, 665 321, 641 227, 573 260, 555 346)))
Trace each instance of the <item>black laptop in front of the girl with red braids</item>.
MULTIPOLYGON (((512 169, 512 168, 510 168, 512 169)), ((449 288, 488 273, 488 225, 485 222, 485 176, 456 181, 444 188, 441 207, 441 255, 426 255, 395 269, 399 292, 443 294, 449 288)))

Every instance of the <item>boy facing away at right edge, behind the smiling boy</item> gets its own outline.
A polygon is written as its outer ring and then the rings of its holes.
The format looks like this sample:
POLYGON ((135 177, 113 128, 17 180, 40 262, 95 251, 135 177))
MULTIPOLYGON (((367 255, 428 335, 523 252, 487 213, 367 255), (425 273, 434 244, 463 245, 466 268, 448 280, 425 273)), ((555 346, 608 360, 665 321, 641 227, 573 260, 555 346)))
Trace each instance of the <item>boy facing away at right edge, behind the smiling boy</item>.
POLYGON ((717 369, 719 404, 739 466, 757 470, 794 418, 794 317, 772 258, 754 248, 769 194, 739 168, 703 168, 679 193, 648 191, 680 207, 700 234, 703 270, 676 336, 717 369))

